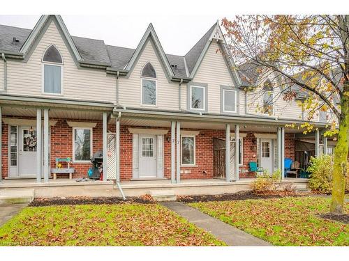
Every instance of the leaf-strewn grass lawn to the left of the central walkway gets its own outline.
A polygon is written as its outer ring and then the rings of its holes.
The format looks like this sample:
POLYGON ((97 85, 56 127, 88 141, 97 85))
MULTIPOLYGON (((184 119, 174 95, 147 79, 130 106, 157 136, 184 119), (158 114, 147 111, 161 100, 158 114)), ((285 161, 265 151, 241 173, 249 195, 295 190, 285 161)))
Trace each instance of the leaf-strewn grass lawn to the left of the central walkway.
POLYGON ((26 207, 0 228, 0 246, 223 245, 156 204, 26 207))

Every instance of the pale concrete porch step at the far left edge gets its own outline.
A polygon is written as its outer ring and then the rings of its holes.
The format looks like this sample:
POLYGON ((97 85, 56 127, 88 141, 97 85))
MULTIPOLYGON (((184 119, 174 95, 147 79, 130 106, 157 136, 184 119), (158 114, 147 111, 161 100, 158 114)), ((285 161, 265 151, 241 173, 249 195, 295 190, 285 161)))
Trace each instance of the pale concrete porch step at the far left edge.
POLYGON ((31 203, 34 189, 0 189, 0 205, 31 203))

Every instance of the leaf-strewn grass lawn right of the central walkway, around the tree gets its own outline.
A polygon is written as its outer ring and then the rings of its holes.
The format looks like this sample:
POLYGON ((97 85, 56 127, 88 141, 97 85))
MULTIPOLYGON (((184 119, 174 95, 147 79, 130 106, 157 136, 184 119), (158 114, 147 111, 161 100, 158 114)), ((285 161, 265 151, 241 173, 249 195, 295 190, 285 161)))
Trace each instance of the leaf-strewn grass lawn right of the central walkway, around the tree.
MULTIPOLYGON (((329 212, 328 198, 288 197, 189 205, 277 246, 349 246, 349 225, 318 216, 329 212)), ((345 209, 348 214, 348 203, 345 209)))

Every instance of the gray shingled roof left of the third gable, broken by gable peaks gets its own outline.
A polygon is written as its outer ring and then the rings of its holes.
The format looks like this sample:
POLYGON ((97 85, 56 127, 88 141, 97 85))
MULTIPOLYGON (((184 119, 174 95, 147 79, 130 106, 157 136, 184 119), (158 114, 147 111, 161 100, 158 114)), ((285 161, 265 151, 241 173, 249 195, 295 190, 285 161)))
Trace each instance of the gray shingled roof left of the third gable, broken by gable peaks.
MULTIPOLYGON (((211 26, 209 31, 205 33, 205 35, 185 56, 166 54, 172 70, 177 77, 188 77, 186 74, 184 60, 186 60, 188 72, 192 72, 195 63, 198 61, 198 58, 202 53, 207 40, 209 40, 209 36, 211 35, 215 26, 216 24, 211 26), (175 67, 176 65, 177 69, 175 67)), ((11 52, 19 52, 30 33, 31 29, 0 24, 0 49, 11 52), (20 40, 20 42, 13 43, 14 37, 17 40, 20 40)), ((103 40, 82 38, 77 36, 72 36, 72 39, 85 62, 110 65, 112 69, 123 70, 135 52, 135 49, 105 45, 103 40)))

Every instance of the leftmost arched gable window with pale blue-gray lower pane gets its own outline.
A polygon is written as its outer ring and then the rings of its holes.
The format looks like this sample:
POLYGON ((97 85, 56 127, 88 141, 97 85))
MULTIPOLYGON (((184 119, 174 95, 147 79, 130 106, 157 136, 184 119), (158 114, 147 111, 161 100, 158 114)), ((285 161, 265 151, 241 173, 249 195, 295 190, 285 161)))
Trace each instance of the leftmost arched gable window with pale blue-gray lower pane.
POLYGON ((51 45, 43 54, 43 93, 62 94, 63 59, 51 45))

